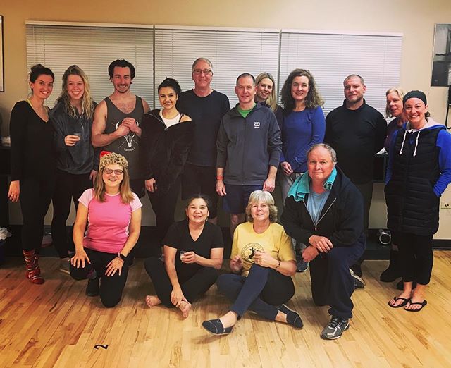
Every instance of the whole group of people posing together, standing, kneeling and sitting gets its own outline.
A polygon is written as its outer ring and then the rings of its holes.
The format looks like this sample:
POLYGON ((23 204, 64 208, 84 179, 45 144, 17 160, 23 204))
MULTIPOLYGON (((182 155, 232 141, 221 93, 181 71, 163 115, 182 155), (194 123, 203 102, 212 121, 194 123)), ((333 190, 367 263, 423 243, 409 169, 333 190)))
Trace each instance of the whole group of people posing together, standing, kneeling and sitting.
POLYGON ((314 302, 330 306, 321 337, 340 338, 352 318, 352 293, 364 287, 360 264, 373 161, 385 144, 393 252, 381 280, 402 276, 402 293, 390 307, 419 311, 426 305, 439 197, 451 182, 451 135, 428 117, 423 92, 388 90, 387 111, 394 119, 387 126, 366 104, 363 78, 352 74, 343 83, 343 105, 324 118, 314 77, 299 68, 282 87, 282 106, 271 74, 239 75, 238 104, 230 109, 228 97, 211 88, 211 61, 199 58, 192 64, 194 88, 182 92, 166 78, 158 87, 161 109, 150 111, 130 91, 131 63, 118 59, 108 70, 114 91, 97 105, 85 73, 70 66, 50 110, 44 102, 54 74, 33 66, 31 96, 11 112, 8 197, 20 200, 32 283, 44 283, 38 255, 53 200, 51 228, 61 269, 87 279, 87 295, 100 295, 106 307, 117 305, 140 236, 140 198, 147 192, 162 254, 144 262, 156 293, 147 295, 149 307, 177 307, 187 317, 191 303, 216 283, 232 305, 218 319, 204 321, 207 331, 230 333, 247 310, 302 328, 299 314, 285 303, 295 293, 291 276, 310 267, 314 302), (276 181, 284 200, 280 223, 271 195, 276 181), (186 220, 175 222, 180 188, 186 220), (221 276, 219 197, 233 238, 232 273, 221 276), (77 215, 68 236, 71 200, 77 215))

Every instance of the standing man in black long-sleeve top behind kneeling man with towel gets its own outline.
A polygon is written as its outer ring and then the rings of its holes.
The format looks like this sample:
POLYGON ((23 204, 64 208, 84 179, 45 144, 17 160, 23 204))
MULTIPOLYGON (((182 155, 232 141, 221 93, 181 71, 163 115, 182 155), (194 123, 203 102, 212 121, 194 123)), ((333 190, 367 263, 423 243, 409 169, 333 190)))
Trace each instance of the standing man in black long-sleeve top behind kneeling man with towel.
MULTIPOLYGON (((347 76, 343 85, 345 101, 326 117, 324 142, 335 149, 340 168, 364 197, 364 231, 368 236, 374 155, 383 148, 387 122, 379 111, 366 104, 366 86, 360 75, 347 76)), ((363 258, 352 265, 357 276, 362 276, 362 261, 363 258)), ((364 287, 361 278, 357 277, 355 282, 357 287, 364 287)))

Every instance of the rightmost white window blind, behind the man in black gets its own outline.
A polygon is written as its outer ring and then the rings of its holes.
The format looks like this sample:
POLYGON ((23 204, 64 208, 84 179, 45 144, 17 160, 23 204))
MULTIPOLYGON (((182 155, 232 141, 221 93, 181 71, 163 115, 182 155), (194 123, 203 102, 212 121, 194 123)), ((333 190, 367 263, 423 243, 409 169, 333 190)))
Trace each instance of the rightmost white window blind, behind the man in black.
POLYGON ((385 92, 400 83, 401 35, 335 35, 282 32, 280 87, 295 68, 308 69, 325 100, 324 113, 342 105, 343 80, 364 78, 366 103, 385 114, 385 92))

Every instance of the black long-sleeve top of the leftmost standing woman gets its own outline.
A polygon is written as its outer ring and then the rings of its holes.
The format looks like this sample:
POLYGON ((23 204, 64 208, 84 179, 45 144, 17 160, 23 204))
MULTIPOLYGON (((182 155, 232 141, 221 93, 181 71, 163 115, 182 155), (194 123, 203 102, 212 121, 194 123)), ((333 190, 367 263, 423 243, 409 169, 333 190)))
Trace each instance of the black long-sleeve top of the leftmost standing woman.
POLYGON ((46 179, 54 175, 54 128, 43 121, 29 102, 17 102, 11 111, 11 180, 46 179))

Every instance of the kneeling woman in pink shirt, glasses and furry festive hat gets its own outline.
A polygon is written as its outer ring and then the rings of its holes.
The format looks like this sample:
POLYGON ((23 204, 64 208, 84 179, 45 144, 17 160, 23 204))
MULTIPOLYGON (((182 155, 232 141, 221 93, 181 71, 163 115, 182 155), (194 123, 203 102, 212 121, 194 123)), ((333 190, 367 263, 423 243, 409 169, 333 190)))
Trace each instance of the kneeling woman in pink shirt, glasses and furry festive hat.
POLYGON ((70 276, 87 278, 86 295, 100 295, 105 307, 114 307, 127 281, 128 254, 140 235, 142 204, 130 190, 125 157, 114 152, 100 156, 94 189, 78 200, 70 276))

